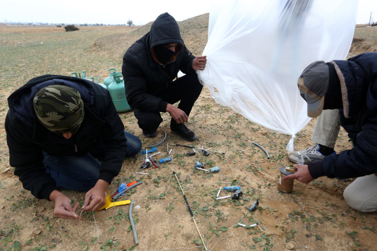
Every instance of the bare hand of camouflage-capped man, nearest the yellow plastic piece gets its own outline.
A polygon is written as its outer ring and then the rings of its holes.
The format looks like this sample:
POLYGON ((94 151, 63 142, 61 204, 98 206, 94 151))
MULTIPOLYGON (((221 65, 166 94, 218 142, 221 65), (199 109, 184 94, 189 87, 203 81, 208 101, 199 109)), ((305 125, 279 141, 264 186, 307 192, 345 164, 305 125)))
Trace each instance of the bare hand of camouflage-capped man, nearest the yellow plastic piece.
POLYGON ((85 194, 84 204, 81 209, 83 211, 93 212, 101 208, 106 202, 106 196, 110 196, 105 195, 108 185, 109 183, 107 183, 106 181, 98 180, 95 186, 85 194))

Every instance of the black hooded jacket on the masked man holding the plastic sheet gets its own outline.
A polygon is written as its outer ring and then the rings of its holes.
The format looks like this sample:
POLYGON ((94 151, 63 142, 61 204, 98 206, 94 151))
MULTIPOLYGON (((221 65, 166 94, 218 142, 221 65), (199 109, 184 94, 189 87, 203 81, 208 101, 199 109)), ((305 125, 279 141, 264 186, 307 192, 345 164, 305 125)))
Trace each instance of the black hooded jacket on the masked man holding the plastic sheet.
POLYGON ((126 98, 131 108, 150 112, 166 112, 167 102, 161 95, 167 84, 183 73, 195 73, 192 61, 195 56, 185 47, 179 26, 169 13, 161 14, 150 31, 136 41, 123 56, 122 75, 126 98), (158 62, 154 47, 176 43, 176 53, 165 65, 158 62))

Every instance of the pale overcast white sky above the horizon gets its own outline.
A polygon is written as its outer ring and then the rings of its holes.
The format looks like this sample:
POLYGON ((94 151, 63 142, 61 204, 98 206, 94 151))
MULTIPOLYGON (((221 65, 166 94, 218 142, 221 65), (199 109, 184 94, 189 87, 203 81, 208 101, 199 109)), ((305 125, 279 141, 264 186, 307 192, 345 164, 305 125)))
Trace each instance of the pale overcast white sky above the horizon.
MULTIPOLYGON (((164 12, 183 21, 209 13, 210 5, 211 0, 0 0, 0 23, 107 25, 127 24, 132 20, 133 24, 142 25, 164 12)), ((377 22, 377 0, 359 0, 356 23, 369 23, 371 12, 377 22)))

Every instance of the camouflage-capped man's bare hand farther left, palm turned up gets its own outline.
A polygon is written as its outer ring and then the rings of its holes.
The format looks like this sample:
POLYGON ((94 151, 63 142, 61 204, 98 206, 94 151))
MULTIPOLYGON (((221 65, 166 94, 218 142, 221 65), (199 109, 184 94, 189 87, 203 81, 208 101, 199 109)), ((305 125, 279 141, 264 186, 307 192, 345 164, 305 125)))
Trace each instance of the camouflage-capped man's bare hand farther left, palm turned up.
POLYGON ((69 198, 57 190, 54 190, 50 194, 50 199, 55 202, 54 216, 56 218, 82 220, 82 218, 75 213, 79 205, 78 202, 72 207, 69 198))

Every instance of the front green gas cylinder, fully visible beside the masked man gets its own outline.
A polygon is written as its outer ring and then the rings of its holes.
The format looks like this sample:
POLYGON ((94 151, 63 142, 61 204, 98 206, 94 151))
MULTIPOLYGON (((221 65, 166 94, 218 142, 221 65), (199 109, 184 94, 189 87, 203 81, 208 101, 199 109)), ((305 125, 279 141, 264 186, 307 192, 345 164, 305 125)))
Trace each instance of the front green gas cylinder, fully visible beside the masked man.
POLYGON ((117 72, 113 75, 114 81, 109 84, 107 90, 113 100, 115 109, 118 113, 124 113, 131 110, 130 105, 126 99, 126 91, 124 90, 124 81, 121 78, 121 73, 117 72))

